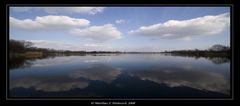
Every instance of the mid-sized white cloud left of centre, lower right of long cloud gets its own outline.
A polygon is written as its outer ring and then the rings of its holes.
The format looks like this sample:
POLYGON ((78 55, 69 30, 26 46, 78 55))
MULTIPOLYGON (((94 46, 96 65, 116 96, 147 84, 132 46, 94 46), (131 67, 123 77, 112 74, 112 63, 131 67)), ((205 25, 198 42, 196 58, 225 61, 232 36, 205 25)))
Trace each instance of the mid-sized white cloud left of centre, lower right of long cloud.
POLYGON ((89 38, 95 41, 106 41, 111 39, 122 38, 122 33, 118 31, 112 24, 105 24, 102 26, 91 26, 85 29, 73 29, 70 33, 79 36, 89 38))

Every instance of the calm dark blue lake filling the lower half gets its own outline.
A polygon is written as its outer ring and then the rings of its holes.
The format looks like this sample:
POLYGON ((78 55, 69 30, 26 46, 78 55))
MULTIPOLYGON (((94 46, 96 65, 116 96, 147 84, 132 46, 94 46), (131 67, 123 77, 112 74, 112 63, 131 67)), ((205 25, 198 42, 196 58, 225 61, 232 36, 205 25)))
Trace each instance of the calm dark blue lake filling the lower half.
POLYGON ((12 59, 17 98, 229 98, 230 60, 167 54, 96 54, 12 59))

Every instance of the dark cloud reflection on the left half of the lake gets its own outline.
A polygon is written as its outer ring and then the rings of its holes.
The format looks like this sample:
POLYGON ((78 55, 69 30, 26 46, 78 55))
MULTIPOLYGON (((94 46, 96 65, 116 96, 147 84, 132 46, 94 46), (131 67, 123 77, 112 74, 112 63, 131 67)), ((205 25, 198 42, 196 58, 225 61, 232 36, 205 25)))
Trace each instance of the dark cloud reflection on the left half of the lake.
POLYGON ((10 89, 34 88, 45 92, 69 91, 84 89, 89 86, 89 80, 98 80, 111 83, 121 74, 120 68, 113 68, 104 64, 93 64, 87 68, 71 71, 67 75, 27 75, 10 80, 10 89))

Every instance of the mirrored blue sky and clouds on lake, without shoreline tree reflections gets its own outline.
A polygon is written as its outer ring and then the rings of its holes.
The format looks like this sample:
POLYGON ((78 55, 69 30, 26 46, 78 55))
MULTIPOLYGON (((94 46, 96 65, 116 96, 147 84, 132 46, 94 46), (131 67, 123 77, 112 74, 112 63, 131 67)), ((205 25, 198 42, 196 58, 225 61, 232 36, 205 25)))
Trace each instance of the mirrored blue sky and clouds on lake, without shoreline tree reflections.
MULTIPOLYGON (((219 58, 214 61, 218 60, 219 58)), ((226 61, 221 60, 222 62, 226 61)), ((135 91, 131 88, 138 86, 136 88, 139 90, 137 90, 138 92, 159 87, 154 92, 155 96, 161 96, 160 92, 166 92, 160 89, 162 84, 165 84, 169 87, 168 92, 170 93, 172 92, 170 89, 184 87, 184 89, 195 89, 194 92, 230 95, 230 64, 213 64, 207 58, 126 54, 63 56, 32 60, 30 63, 31 67, 10 70, 10 92, 18 92, 18 88, 33 89, 35 90, 33 92, 59 94, 77 90, 79 92, 88 91, 86 95, 98 96, 101 90, 112 90, 112 92, 119 92, 122 95, 125 93, 135 95, 135 91), (124 81, 133 84, 127 84, 124 81), (129 88, 124 88, 127 86, 129 88), (144 86, 148 86, 148 88, 144 86), (160 94, 157 95, 158 93, 160 94)), ((111 94, 114 94, 112 92, 111 94)), ((15 93, 12 95, 14 96, 15 93)), ((107 94, 107 92, 105 93, 107 94)), ((154 94, 149 93, 145 96, 151 95, 154 94)), ((192 94, 186 92, 186 95, 192 94)), ((196 94, 197 96, 198 94, 196 94)), ((174 93, 172 97, 174 97, 174 93)))

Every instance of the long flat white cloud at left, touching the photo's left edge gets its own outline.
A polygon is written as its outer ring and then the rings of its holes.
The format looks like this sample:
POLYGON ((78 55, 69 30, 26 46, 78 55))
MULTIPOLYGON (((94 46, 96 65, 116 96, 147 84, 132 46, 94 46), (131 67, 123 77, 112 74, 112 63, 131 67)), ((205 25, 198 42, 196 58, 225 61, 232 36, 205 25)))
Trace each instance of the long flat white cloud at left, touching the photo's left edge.
POLYGON ((86 19, 77 19, 71 18, 68 16, 42 16, 36 17, 34 20, 32 19, 17 19, 14 17, 10 17, 10 26, 17 27, 22 29, 29 30, 39 30, 39 29, 69 29, 77 26, 87 26, 90 24, 90 21, 86 19))

